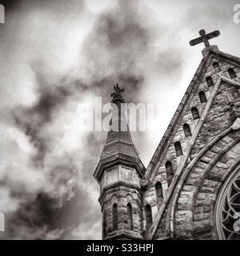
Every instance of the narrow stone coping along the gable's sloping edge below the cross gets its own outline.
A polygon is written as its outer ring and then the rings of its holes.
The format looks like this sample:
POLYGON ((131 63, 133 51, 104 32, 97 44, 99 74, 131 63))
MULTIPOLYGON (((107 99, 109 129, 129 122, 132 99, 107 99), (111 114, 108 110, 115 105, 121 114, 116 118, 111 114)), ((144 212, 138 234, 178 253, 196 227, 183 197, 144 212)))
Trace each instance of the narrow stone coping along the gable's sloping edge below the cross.
MULTIPOLYGON (((168 140, 166 138, 168 138, 170 136, 170 134, 173 132, 174 126, 178 122, 178 119, 180 118, 180 114, 182 113, 184 106, 186 106, 186 103, 188 102, 188 99, 190 98, 191 91, 193 90, 195 84, 197 82, 200 82, 200 78, 207 68, 206 63, 208 64, 208 62, 210 62, 211 58, 213 58, 213 57, 220 58, 220 59, 224 58, 225 61, 227 60, 228 62, 234 62, 233 63, 234 65, 237 65, 240 67, 240 58, 235 57, 230 54, 226 54, 220 50, 216 50, 216 48, 214 48, 214 47, 210 48, 208 53, 204 54, 202 61, 200 62, 198 69, 194 74, 194 78, 192 78, 190 85, 188 86, 188 88, 186 90, 186 93, 184 94, 180 104, 178 105, 178 108, 175 111, 174 116, 171 119, 169 126, 167 126, 167 128, 166 128, 166 132, 163 134, 163 137, 162 137, 160 143, 158 144, 158 147, 155 150, 154 155, 151 158, 149 165, 146 168, 145 178, 147 180, 150 180, 152 174, 154 173, 154 169, 157 166, 159 156, 165 150, 166 143, 168 142, 168 140)), ((231 79, 222 77, 222 80, 225 80, 226 82, 230 82, 230 83, 234 84, 234 82, 231 79)))

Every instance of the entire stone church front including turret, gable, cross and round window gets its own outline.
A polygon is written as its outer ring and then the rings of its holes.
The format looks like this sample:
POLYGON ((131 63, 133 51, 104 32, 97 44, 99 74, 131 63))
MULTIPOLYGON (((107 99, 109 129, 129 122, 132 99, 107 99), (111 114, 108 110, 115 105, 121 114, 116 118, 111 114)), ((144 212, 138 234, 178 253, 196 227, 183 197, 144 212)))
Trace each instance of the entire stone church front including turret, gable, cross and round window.
MULTIPOLYGON (((94 172, 103 239, 240 238, 240 58, 210 46, 217 32, 190 42, 205 43, 202 62, 147 168, 128 129, 107 134, 94 172)), ((126 122, 118 86, 112 97, 126 122)))

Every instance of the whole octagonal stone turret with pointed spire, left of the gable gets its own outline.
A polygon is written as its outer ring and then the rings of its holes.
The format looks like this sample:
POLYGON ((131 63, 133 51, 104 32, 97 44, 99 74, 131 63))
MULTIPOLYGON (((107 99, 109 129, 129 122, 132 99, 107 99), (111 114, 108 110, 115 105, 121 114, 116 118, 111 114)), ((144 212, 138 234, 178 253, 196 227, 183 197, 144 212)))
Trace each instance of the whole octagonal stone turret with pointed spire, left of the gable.
POLYGON ((142 193, 145 172, 126 122, 123 89, 114 86, 113 113, 106 145, 94 171, 100 186, 103 239, 142 239, 142 193))

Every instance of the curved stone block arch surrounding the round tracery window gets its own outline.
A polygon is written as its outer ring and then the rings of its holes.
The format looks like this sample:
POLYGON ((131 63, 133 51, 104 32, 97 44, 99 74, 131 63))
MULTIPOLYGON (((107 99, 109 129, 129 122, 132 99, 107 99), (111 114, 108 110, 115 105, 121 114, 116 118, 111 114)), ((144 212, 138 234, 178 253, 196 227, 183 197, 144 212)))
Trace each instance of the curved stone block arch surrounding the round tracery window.
POLYGON ((214 206, 218 192, 240 159, 240 132, 219 138, 190 170, 174 214, 176 238, 215 239, 214 206))

